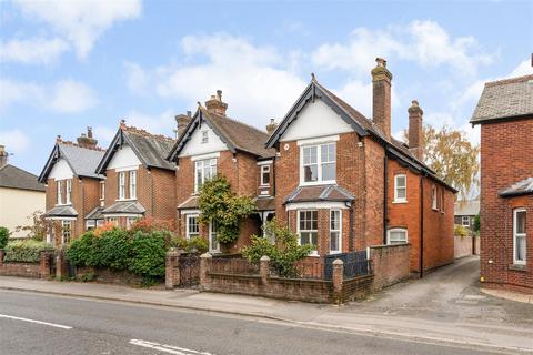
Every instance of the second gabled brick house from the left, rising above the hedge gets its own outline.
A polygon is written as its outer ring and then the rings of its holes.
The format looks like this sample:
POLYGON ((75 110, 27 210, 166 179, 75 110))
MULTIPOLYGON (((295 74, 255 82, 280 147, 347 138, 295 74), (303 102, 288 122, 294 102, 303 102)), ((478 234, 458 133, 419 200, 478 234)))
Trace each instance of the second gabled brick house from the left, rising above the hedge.
POLYGON ((130 227, 142 217, 174 224, 175 166, 165 158, 175 140, 125 125, 122 120, 105 154, 95 166, 105 176, 101 204, 86 219, 97 215, 130 227))

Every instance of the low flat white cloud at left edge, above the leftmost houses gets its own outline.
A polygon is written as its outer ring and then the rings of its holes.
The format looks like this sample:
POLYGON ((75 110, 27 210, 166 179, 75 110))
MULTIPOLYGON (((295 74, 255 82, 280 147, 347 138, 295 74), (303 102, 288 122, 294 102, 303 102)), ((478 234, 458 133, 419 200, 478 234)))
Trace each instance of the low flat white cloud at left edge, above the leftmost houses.
POLYGON ((60 113, 81 112, 97 104, 94 91, 68 79, 51 85, 0 79, 0 110, 13 104, 33 105, 60 113))

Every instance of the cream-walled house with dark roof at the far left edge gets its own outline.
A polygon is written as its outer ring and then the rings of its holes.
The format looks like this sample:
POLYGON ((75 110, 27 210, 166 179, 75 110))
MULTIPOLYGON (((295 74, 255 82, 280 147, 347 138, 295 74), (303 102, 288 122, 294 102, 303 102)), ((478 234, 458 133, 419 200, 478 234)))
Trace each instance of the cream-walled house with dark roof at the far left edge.
POLYGON ((11 237, 26 237, 16 231, 32 223, 34 212, 44 212, 46 187, 37 176, 8 163, 6 146, 0 145, 0 226, 9 229, 11 237))

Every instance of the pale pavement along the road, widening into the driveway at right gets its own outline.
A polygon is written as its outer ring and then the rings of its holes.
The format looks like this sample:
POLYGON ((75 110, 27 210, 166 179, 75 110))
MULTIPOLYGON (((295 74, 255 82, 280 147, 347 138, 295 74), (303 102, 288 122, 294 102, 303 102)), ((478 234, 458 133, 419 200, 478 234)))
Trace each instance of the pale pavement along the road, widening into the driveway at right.
POLYGON ((191 290, 142 290, 18 277, 0 277, 0 288, 249 316, 316 329, 533 354, 533 306, 483 294, 477 275, 479 258, 462 258, 423 280, 411 280, 389 287, 368 301, 342 306, 191 290))

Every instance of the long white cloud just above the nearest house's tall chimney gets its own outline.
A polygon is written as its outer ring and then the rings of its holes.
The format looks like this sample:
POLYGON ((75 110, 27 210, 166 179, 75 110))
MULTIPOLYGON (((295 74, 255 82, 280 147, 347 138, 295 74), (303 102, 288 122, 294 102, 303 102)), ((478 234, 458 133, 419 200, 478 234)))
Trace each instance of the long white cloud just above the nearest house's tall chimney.
POLYGON ((385 30, 358 28, 348 42, 320 45, 312 60, 329 70, 368 73, 375 57, 398 57, 425 68, 446 65, 460 74, 473 75, 479 65, 492 62, 492 55, 479 47, 473 37, 452 38, 439 23, 416 20, 385 30))

